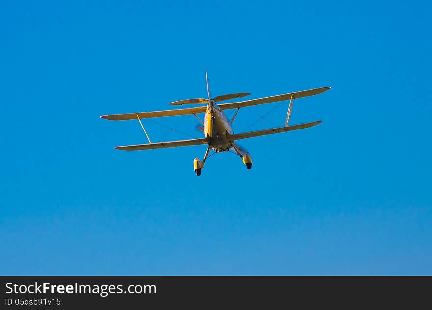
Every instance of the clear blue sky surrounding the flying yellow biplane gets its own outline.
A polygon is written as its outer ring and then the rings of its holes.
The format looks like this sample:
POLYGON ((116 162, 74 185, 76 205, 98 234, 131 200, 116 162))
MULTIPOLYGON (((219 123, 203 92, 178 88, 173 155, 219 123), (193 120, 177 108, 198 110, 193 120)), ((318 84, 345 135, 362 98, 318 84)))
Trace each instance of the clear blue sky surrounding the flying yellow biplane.
MULTIPOLYGON (((2 1, 0 274, 432 274, 431 9, 2 1), (243 140, 252 170, 222 153, 200 177, 204 146, 114 149, 145 135, 100 115, 205 97, 206 67, 213 96, 332 86, 290 120, 323 123, 243 140)), ((193 115, 154 121, 180 131, 146 120, 152 141, 201 137, 193 115)))

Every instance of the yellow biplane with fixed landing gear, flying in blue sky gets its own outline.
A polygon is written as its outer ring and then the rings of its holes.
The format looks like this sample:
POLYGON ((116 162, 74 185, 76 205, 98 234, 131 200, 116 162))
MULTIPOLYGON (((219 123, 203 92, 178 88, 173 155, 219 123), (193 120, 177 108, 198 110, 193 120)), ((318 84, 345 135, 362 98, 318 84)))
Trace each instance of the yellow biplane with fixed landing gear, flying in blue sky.
POLYGON ((221 101, 242 98, 250 95, 250 93, 228 94, 228 95, 221 95, 212 98, 210 96, 209 79, 207 76, 207 70, 206 70, 206 82, 207 82, 207 95, 208 95, 207 99, 195 98, 195 99, 179 100, 179 101, 169 103, 170 105, 201 104, 201 106, 198 107, 173 109, 173 110, 166 110, 166 111, 102 115, 101 118, 112 120, 112 121, 124 121, 124 120, 137 119, 141 124, 141 127, 144 130, 144 133, 149 141, 149 143, 146 144, 116 146, 115 148, 117 150, 124 150, 124 151, 138 151, 138 150, 173 148, 173 147, 189 146, 189 145, 206 145, 207 150, 204 154, 203 160, 200 160, 199 158, 195 158, 193 160, 193 168, 197 176, 201 175, 202 169, 204 168, 204 164, 209 157, 210 149, 213 149, 215 153, 234 151, 233 153, 240 156, 246 168, 251 169, 252 168, 251 155, 241 146, 236 144, 236 141, 241 139, 246 139, 246 138, 259 137, 268 134, 309 128, 320 124, 321 121, 315 121, 315 122, 298 124, 298 125, 288 125, 288 122, 290 120, 291 110, 293 108, 295 99, 321 94, 331 88, 331 87, 320 87, 320 88, 303 90, 303 91, 287 93, 282 95, 239 101, 234 103, 217 104, 221 101), (237 116, 237 113, 241 108, 254 106, 258 104, 280 102, 285 100, 289 100, 290 102, 288 104, 285 124, 283 127, 243 132, 243 133, 234 133, 232 124, 237 116), (230 110, 230 109, 236 109, 231 119, 229 119, 224 112, 225 110, 230 110), (205 113, 204 121, 202 121, 201 118, 198 116, 198 114, 200 113, 205 113), (204 133, 204 138, 152 143, 141 120, 145 118, 177 116, 177 115, 195 115, 195 117, 202 124, 202 126, 201 125, 197 126, 197 129, 200 129, 200 131, 204 133))

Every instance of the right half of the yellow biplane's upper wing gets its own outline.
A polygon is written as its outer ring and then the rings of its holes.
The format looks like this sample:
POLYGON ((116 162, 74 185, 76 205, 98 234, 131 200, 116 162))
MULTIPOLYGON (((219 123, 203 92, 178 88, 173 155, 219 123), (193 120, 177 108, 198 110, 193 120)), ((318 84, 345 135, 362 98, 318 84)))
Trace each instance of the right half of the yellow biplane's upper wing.
POLYGON ((330 88, 331 87, 320 87, 320 88, 302 90, 299 92, 288 93, 288 94, 283 94, 283 95, 276 95, 276 96, 271 96, 271 97, 251 99, 251 100, 245 100, 245 101, 239 101, 239 102, 233 102, 233 103, 222 103, 222 104, 219 104, 219 107, 221 110, 237 109, 237 108, 247 107, 247 106, 252 106, 252 105, 288 100, 288 99, 291 99, 291 95, 293 95, 293 99, 296 99, 296 98, 301 98, 301 97, 318 95, 318 94, 324 93, 325 91, 329 90, 330 88))

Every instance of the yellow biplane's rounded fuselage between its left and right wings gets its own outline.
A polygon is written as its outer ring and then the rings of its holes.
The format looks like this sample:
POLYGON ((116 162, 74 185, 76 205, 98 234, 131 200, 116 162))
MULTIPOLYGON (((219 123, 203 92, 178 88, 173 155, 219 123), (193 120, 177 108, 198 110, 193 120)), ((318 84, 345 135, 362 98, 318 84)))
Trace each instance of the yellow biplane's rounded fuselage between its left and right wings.
POLYGON ((204 116, 204 135, 211 139, 211 147, 216 152, 228 151, 231 143, 227 137, 233 134, 231 121, 216 103, 207 105, 204 116))

